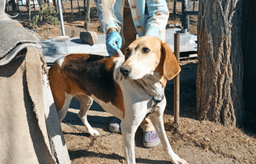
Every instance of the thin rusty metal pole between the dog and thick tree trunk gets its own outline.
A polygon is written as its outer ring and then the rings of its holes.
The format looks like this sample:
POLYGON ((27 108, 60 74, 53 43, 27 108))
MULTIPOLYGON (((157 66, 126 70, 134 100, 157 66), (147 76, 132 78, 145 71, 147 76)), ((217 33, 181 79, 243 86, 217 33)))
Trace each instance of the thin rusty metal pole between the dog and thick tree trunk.
MULTIPOLYGON (((180 63, 180 33, 174 33, 174 54, 180 63)), ((180 118, 180 74, 174 77, 174 123, 179 123, 180 118)))

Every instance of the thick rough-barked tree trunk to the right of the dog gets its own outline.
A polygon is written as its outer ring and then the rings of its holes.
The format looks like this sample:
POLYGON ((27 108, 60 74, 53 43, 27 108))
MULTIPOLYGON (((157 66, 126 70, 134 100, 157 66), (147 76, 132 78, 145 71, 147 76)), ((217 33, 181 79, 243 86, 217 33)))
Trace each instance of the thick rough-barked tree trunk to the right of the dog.
POLYGON ((201 0, 196 81, 199 120, 242 127, 242 0, 201 0))

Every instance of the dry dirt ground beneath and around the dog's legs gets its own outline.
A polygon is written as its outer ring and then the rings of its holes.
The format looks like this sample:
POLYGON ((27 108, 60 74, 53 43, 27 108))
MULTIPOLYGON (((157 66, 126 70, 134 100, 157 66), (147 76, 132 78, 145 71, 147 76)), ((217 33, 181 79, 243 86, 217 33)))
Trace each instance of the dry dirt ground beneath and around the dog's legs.
MULTIPOLYGON (((197 60, 183 60, 180 64, 180 126, 174 126, 173 80, 168 81, 165 89, 167 106, 163 116, 174 152, 188 163, 255 164, 255 134, 196 119, 197 60), (206 137, 209 141, 206 141, 206 137)), ((108 128, 113 115, 93 102, 88 112, 88 122, 100 132, 100 136, 90 137, 77 116, 79 109, 80 103, 74 98, 61 123, 72 163, 125 163, 122 135, 112 133, 108 128)), ((135 134, 135 157, 137 163, 170 163, 162 144, 155 148, 143 148, 143 131, 140 127, 135 134)))

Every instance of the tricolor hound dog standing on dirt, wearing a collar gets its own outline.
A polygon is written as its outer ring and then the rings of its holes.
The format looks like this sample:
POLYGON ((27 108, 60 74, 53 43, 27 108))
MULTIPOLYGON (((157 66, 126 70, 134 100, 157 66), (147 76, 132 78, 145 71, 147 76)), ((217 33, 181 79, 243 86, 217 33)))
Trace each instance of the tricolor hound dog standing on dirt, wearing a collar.
POLYGON ((72 97, 80 101, 78 116, 92 136, 99 135, 86 118, 93 100, 121 119, 127 163, 135 163, 134 135, 149 114, 172 163, 185 164, 172 150, 163 124, 164 87, 179 72, 170 46, 159 38, 143 36, 129 45, 125 57, 68 54, 58 59, 49 69, 49 85, 60 121, 72 97))

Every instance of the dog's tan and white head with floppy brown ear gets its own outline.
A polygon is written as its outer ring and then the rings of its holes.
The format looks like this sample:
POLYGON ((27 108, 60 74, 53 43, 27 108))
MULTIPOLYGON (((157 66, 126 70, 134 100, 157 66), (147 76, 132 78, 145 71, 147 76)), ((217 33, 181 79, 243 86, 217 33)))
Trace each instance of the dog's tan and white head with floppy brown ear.
POLYGON ((120 72, 125 79, 142 79, 158 72, 164 79, 171 80, 180 72, 180 66, 167 43, 154 36, 143 36, 126 49, 120 72))

